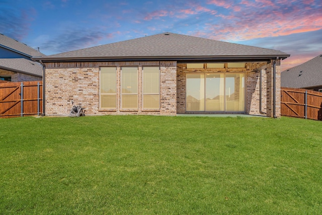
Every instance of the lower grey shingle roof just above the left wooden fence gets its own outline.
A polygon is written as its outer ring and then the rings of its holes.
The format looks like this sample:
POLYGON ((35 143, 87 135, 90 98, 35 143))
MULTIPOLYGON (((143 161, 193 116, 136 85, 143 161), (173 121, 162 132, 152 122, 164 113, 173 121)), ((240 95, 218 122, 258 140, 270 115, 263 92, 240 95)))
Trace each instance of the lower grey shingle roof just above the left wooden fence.
POLYGON ((37 77, 43 74, 40 63, 25 58, 0 58, 0 68, 37 77))

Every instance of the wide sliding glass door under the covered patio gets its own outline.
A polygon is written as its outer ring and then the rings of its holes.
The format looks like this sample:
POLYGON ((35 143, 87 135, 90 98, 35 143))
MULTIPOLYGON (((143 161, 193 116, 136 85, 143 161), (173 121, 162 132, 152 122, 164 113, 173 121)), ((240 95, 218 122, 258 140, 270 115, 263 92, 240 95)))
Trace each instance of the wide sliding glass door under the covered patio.
POLYGON ((186 110, 245 111, 245 74, 187 74, 186 110))

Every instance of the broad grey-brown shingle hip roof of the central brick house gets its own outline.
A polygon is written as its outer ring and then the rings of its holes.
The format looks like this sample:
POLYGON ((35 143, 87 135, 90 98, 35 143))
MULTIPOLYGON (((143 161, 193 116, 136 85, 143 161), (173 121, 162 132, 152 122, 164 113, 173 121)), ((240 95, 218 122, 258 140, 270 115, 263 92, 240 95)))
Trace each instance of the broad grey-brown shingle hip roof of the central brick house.
POLYGON ((135 60, 135 59, 285 59, 290 56, 281 51, 240 45, 217 40, 199 38, 174 33, 156 34, 107 45, 69 51, 34 60, 72 61, 72 60, 135 60))

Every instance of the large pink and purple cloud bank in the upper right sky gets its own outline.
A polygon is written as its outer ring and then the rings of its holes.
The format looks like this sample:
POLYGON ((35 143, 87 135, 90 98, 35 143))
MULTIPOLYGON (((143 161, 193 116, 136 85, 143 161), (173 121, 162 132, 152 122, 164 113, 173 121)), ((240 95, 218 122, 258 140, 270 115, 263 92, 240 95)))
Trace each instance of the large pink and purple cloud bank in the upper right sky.
MULTIPOLYGON (((211 2, 224 4, 221 0, 211 2)), ((214 32, 211 36, 213 39, 215 37, 230 41, 249 40, 322 29, 320 10, 308 6, 303 10, 302 5, 298 4, 289 5, 284 2, 284 5, 278 5, 268 0, 255 2, 243 0, 238 7, 241 8, 232 8, 228 15, 216 15, 222 20, 218 24, 206 26, 210 34, 214 32), (285 10, 286 6, 289 7, 287 10, 285 10)))

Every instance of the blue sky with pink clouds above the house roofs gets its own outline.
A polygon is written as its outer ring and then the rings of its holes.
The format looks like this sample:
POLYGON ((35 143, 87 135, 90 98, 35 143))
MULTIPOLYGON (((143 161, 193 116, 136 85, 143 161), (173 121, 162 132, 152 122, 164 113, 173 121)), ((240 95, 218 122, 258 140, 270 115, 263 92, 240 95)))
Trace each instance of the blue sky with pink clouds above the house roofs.
POLYGON ((284 70, 322 54, 322 2, 0 0, 0 33, 47 55, 163 32, 281 50, 284 70))

